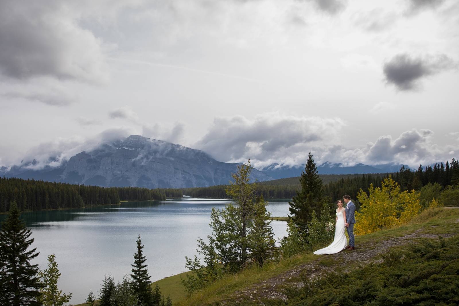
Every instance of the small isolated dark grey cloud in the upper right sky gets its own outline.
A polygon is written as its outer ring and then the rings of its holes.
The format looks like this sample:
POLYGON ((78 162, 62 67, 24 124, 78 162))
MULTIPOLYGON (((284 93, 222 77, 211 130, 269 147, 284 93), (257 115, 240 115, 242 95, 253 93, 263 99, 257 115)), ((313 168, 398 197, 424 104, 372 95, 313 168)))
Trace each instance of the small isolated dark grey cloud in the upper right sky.
POLYGON ((453 60, 444 54, 425 58, 398 54, 384 64, 383 72, 387 84, 392 84, 401 91, 410 91, 419 88, 421 79, 455 66, 453 60))

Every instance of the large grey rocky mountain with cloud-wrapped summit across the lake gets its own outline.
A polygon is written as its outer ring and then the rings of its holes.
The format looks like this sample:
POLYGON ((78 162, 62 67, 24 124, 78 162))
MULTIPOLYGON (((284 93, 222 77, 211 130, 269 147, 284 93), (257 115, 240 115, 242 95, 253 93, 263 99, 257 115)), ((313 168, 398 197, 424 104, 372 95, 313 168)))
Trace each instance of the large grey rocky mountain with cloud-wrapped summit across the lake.
MULTIPOLYGON (((131 135, 72 156, 57 168, 31 170, 30 163, 3 169, 6 176, 106 187, 186 188, 228 184, 239 164, 213 159, 201 150, 131 135)), ((256 169, 252 179, 272 178, 256 169)))

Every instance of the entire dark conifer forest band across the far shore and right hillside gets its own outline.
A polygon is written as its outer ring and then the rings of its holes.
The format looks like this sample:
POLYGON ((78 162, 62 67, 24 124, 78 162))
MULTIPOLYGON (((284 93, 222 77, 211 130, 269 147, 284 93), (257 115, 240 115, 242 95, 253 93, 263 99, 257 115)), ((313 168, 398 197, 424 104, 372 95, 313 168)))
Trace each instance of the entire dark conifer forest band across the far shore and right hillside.
MULTIPOLYGON (((433 166, 419 166, 413 171, 402 167, 396 173, 326 175, 321 176, 324 182, 324 196, 330 201, 349 194, 359 203, 357 194, 360 189, 368 192, 371 184, 381 187, 381 181, 392 175, 402 191, 420 191, 426 185, 447 186, 459 184, 459 161, 453 159, 451 164, 437 163, 433 166)), ((256 194, 265 199, 292 198, 300 188, 299 177, 260 182, 256 194)), ((72 185, 66 183, 23 180, 18 178, 0 178, 0 212, 9 210, 9 203, 15 200, 20 210, 47 210, 62 208, 79 208, 93 205, 118 204, 119 201, 163 200, 181 198, 187 195, 193 198, 229 198, 225 189, 228 185, 195 188, 148 189, 139 187, 98 187, 72 185)))

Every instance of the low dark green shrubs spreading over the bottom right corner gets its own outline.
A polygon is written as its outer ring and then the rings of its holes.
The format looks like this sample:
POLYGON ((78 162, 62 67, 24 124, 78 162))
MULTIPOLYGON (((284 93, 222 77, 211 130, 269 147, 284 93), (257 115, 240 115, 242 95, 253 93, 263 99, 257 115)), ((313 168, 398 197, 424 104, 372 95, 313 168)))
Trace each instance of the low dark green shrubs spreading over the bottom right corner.
POLYGON ((314 281, 303 276, 302 288, 285 290, 286 302, 266 305, 459 304, 459 237, 423 239, 382 257, 381 263, 331 272, 314 281))

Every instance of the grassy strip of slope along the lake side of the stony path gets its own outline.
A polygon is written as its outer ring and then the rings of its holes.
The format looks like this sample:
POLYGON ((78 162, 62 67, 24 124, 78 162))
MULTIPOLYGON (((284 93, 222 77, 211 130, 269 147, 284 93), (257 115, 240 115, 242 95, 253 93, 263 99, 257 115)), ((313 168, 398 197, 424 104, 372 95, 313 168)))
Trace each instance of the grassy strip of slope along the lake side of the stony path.
MULTIPOLYGON (((403 237, 417 230, 422 233, 430 234, 459 234, 459 209, 437 210, 436 212, 424 212, 407 225, 392 229, 382 230, 369 235, 359 236, 356 243, 364 246, 368 244, 372 247, 382 243, 384 240, 403 237)), ((209 305, 232 294, 235 290, 242 290, 253 283, 260 282, 267 278, 272 278, 286 270, 292 269, 298 264, 317 260, 312 254, 302 254, 280 261, 277 264, 271 263, 263 268, 254 267, 246 269, 235 275, 230 275, 209 287, 203 289, 195 295, 174 301, 174 305, 209 305)))

